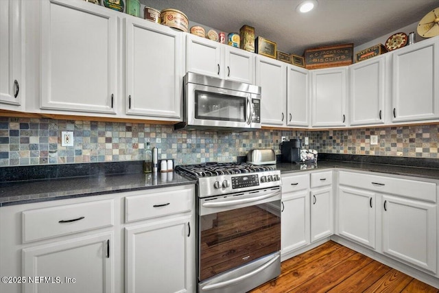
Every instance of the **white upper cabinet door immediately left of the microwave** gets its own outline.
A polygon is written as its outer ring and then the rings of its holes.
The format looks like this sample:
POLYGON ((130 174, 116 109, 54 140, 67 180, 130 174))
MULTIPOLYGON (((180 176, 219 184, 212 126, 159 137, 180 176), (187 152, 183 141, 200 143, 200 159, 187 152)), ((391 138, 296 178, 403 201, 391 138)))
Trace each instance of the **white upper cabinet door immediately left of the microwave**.
POLYGON ((182 33, 126 20, 126 113, 180 119, 182 33))

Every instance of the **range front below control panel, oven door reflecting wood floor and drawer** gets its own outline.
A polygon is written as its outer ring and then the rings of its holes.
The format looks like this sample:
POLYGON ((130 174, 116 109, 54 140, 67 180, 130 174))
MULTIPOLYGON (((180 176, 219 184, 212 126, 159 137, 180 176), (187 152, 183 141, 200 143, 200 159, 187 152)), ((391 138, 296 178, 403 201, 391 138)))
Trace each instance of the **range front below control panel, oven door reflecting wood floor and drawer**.
POLYGON ((255 277, 275 262, 270 279, 280 273, 281 187, 200 198, 199 215, 200 292, 228 292, 230 285, 245 283, 247 276, 255 277), (230 274, 245 265, 252 268, 230 274), (215 276, 221 281, 212 281, 215 276))

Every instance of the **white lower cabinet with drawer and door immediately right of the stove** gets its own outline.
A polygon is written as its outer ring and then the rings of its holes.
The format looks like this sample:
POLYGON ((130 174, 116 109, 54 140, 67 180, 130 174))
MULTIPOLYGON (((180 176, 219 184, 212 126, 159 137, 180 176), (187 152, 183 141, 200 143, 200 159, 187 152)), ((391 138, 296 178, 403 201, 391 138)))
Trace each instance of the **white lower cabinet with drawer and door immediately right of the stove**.
POLYGON ((309 174, 282 176, 281 255, 309 244, 309 174))

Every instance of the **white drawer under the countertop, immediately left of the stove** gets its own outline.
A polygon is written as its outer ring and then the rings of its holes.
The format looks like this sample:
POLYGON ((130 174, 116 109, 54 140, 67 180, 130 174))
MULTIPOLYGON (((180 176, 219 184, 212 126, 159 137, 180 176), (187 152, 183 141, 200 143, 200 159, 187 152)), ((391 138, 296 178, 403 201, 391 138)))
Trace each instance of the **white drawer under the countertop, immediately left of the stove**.
POLYGON ((125 221, 134 222, 191 211, 194 197, 192 188, 126 196, 125 221))

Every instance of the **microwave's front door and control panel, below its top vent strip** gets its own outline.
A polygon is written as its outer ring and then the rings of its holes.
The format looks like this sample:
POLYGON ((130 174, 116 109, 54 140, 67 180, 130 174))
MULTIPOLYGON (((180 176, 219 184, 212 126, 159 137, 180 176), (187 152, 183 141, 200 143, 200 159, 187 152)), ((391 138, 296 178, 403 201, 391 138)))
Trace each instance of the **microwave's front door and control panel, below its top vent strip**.
POLYGON ((261 128, 257 95, 200 84, 186 86, 188 126, 261 128))

